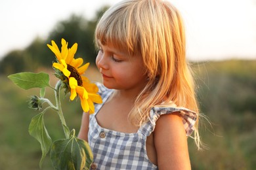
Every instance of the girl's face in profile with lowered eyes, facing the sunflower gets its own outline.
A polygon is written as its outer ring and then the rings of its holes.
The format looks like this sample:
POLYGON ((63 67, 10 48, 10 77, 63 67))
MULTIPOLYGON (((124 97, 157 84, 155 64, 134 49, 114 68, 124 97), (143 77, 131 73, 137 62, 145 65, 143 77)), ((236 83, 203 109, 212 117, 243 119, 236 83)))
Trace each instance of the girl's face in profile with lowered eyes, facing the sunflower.
POLYGON ((142 90, 146 84, 141 56, 128 56, 112 44, 101 44, 96 65, 102 74, 103 84, 117 90, 142 90))

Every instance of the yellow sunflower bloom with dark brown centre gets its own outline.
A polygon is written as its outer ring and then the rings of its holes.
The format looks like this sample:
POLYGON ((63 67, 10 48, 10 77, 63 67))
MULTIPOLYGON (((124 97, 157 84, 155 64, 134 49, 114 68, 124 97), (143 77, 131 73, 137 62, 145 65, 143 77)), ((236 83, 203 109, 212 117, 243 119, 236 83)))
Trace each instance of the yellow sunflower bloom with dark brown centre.
POLYGON ((89 79, 83 76, 83 73, 87 70, 89 63, 83 65, 83 59, 74 59, 75 52, 77 51, 77 43, 71 48, 68 48, 68 42, 64 39, 61 40, 61 51, 54 41, 51 41, 52 45, 47 46, 55 54, 57 63, 53 63, 53 67, 62 72, 66 78, 60 78, 61 80, 68 80, 68 89, 70 90, 70 100, 74 100, 79 96, 81 101, 81 107, 83 111, 90 114, 95 112, 93 103, 102 103, 100 95, 97 94, 98 87, 93 84, 89 79))

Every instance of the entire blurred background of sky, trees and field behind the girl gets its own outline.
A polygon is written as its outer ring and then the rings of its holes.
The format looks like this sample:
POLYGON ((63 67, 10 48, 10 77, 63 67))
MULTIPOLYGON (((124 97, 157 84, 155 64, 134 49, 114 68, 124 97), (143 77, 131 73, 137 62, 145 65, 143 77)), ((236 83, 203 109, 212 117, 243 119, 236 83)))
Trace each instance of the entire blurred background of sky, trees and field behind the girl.
MULTIPOLYGON (((169 0, 184 17, 187 56, 198 84, 200 132, 207 149, 198 151, 188 139, 192 169, 256 169, 256 1, 169 0)), ((39 169, 41 148, 28 134, 39 113, 28 109, 30 95, 8 75, 45 71, 54 86, 54 55, 46 44, 60 39, 78 43, 76 58, 91 63, 86 73, 100 81, 95 68, 96 22, 114 1, 0 1, 0 169, 39 169)), ((46 97, 54 101, 53 91, 46 97)), ((79 131, 79 100, 62 96, 64 116, 79 131)), ((45 114, 52 139, 64 137, 55 112, 45 114), (58 126, 59 125, 59 126, 58 126)), ((42 169, 53 169, 47 156, 42 169)))

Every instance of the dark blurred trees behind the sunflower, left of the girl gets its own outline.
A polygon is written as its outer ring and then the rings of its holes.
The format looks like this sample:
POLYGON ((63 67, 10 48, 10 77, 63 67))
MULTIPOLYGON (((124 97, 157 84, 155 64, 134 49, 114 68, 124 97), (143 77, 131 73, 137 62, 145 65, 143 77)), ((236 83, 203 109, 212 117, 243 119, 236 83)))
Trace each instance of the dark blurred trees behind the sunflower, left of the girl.
POLYGON ((8 75, 21 71, 35 71, 38 67, 52 67, 54 56, 47 48, 47 44, 51 44, 51 40, 54 40, 58 46, 61 46, 58 43, 62 38, 69 44, 77 42, 78 48, 75 56, 83 58, 85 63, 95 65, 97 54, 94 44, 95 27, 98 18, 108 8, 105 6, 98 10, 93 20, 86 20, 83 16, 72 14, 68 20, 57 22, 46 40, 35 37, 34 41, 24 50, 13 50, 4 56, 0 61, 0 74, 8 75))

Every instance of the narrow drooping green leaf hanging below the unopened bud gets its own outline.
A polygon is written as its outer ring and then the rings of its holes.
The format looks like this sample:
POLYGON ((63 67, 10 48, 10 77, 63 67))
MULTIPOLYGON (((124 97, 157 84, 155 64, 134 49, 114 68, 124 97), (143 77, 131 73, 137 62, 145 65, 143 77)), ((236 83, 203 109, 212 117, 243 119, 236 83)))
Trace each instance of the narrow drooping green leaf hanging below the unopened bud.
POLYGON ((30 135, 37 139, 37 141, 39 141, 41 144, 42 157, 40 161, 40 167, 52 144, 52 139, 49 136, 47 129, 45 128, 43 114, 44 113, 39 113, 34 116, 30 122, 30 127, 28 128, 30 135))

